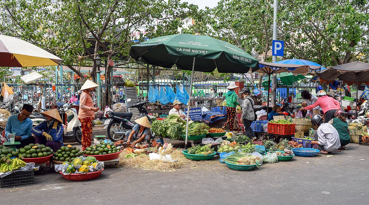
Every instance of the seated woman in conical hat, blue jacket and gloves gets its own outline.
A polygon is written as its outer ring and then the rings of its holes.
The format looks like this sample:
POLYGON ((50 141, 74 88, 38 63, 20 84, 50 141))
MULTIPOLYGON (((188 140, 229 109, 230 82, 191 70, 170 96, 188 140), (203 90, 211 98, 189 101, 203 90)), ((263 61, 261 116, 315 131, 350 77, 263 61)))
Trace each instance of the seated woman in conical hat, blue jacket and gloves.
POLYGON ((50 147, 54 152, 63 146, 64 127, 58 109, 41 112, 47 118, 46 121, 31 129, 35 135, 35 143, 50 147))

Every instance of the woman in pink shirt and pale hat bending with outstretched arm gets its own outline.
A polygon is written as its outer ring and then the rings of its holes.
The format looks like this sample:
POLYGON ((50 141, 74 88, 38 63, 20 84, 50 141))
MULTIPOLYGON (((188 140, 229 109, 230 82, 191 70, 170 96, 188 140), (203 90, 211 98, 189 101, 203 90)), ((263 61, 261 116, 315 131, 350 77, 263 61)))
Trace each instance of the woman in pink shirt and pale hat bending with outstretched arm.
POLYGON ((313 109, 313 108, 315 108, 319 105, 320 108, 322 108, 323 113, 325 115, 324 123, 327 123, 331 119, 334 118, 334 113, 337 110, 341 109, 341 104, 338 102, 338 100, 327 96, 327 93, 325 93, 324 90, 318 91, 317 97, 318 97, 318 100, 316 102, 314 102, 314 104, 309 105, 307 107, 302 107, 302 108, 300 108, 300 110, 301 111, 310 110, 310 109, 313 109))

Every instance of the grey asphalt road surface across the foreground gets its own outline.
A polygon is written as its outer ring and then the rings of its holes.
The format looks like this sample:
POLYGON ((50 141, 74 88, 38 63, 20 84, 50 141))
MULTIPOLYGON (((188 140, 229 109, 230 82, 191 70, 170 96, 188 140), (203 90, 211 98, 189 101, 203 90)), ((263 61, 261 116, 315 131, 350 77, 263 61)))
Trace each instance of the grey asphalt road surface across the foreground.
POLYGON ((174 173, 107 166, 97 179, 73 182, 49 170, 35 185, 1 189, 3 204, 368 204, 369 146, 234 171, 218 161, 174 173), (361 160, 363 159, 363 160, 361 160), (8 191, 8 192, 7 192, 8 191))

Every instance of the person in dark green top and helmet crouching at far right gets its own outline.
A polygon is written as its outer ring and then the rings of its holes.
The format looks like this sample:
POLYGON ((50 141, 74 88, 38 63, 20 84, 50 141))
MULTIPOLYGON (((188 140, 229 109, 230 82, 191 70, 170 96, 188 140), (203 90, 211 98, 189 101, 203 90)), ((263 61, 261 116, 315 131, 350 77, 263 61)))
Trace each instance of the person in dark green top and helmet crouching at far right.
POLYGON ((345 145, 350 143, 350 135, 348 131, 348 124, 345 118, 345 111, 337 110, 334 116, 335 118, 331 119, 329 123, 332 124, 338 132, 339 141, 341 142, 341 149, 347 149, 345 145))

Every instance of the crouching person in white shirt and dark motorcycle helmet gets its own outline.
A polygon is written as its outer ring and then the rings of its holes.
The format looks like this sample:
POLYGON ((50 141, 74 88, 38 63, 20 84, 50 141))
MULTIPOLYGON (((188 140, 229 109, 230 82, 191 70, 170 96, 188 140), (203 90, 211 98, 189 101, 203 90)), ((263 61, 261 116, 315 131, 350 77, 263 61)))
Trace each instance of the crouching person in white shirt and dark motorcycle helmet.
POLYGON ((319 154, 328 154, 330 152, 337 152, 341 147, 339 135, 333 125, 323 123, 323 118, 320 115, 311 117, 311 125, 318 126, 314 132, 315 141, 311 141, 312 145, 317 145, 320 150, 319 154))

